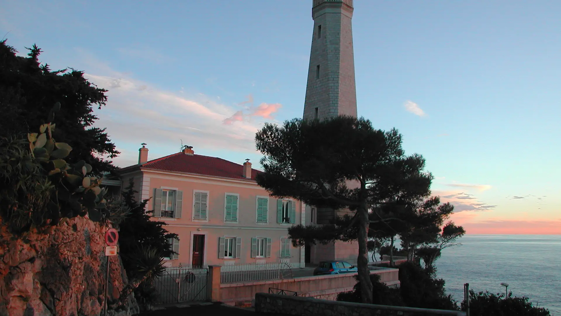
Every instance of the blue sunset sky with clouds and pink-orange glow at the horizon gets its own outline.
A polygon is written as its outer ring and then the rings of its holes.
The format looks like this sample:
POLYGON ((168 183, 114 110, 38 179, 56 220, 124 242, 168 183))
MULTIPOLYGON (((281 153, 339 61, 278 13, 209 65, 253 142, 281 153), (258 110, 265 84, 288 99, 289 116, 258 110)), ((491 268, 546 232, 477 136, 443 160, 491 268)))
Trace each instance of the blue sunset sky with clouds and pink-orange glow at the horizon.
MULTIPOLYGON (((135 164, 181 145, 259 168, 254 135, 301 118, 311 0, 8 1, 0 37, 108 90, 135 164)), ((358 115, 397 128, 472 234, 561 234, 559 1, 355 0, 358 115)))

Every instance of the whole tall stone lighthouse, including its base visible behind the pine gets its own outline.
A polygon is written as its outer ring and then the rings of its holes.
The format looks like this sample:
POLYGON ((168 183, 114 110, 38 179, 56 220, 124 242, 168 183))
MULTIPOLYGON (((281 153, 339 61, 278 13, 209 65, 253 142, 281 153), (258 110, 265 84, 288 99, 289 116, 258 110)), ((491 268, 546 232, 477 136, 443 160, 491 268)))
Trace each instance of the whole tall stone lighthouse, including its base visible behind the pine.
MULTIPOLYGON (((353 0, 312 0, 312 48, 304 102, 304 119, 357 116, 355 56, 352 43, 353 0)), ((348 183, 351 185, 352 183, 348 183)), ((348 210, 306 207, 306 223, 328 224, 348 210)), ((356 263, 356 242, 306 245, 306 263, 344 260, 356 263)))

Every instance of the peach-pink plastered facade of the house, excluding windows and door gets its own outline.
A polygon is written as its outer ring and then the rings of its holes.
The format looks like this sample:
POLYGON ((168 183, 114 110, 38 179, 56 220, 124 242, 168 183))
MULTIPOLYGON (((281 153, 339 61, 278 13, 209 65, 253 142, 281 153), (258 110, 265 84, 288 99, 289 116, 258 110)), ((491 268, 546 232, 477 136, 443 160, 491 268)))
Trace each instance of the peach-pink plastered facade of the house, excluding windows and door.
MULTIPOLYGON (((253 180, 223 179, 188 174, 174 174, 143 170, 123 177, 128 185, 128 178, 135 180, 135 189, 140 191, 139 198, 151 198, 147 208, 154 209, 154 191, 156 188, 176 189, 183 192, 181 218, 154 218, 168 225, 169 232, 179 236, 179 255, 177 259, 167 260, 169 267, 189 266, 192 263, 192 243, 194 234, 203 234, 204 265, 234 265, 255 263, 276 263, 284 261, 292 267, 304 264, 300 247, 290 246, 290 256, 280 257, 280 238, 288 237, 288 227, 301 223, 302 204, 296 201, 296 223, 277 223, 277 198, 253 180), (208 191, 208 220, 193 219, 194 192, 208 191), (226 193, 239 195, 237 223, 224 220, 224 199, 226 193), (269 197, 268 223, 256 223, 256 198, 269 197), (241 256, 236 259, 218 258, 219 237, 241 238, 241 256), (271 252, 268 258, 251 258, 251 238, 271 238, 271 252), (302 258, 301 258, 302 257, 302 258)), ((293 199, 285 199, 293 200, 293 199)))

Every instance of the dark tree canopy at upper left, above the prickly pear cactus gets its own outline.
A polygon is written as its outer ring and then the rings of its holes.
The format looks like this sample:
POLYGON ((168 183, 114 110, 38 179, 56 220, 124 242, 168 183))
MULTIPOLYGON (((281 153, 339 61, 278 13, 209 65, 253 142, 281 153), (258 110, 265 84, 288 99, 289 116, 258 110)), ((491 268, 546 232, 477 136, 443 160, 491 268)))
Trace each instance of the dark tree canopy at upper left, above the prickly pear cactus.
POLYGON ((105 105, 107 90, 96 87, 74 69, 50 70, 40 64, 40 48, 28 48, 27 57, 17 56, 16 49, 0 42, 0 136, 27 133, 45 123, 56 102, 64 111, 58 114, 53 137, 72 144, 68 159, 84 160, 95 175, 114 169, 111 159, 119 154, 105 129, 93 127, 98 119, 95 107, 105 105))

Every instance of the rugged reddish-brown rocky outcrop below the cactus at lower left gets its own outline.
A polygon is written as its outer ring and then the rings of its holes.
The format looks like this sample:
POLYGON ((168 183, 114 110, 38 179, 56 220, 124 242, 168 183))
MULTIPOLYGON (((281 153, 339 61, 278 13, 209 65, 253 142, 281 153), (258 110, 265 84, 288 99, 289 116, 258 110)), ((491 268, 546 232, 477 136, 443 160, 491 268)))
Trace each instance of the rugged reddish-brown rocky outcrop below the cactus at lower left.
MULTIPOLYGON (((104 304, 104 233, 88 218, 76 217, 44 231, 13 236, 0 222, 0 315, 98 316, 104 304)), ((109 257, 108 302, 127 282, 119 256, 109 257)), ((134 297, 108 315, 139 312, 134 297)))

